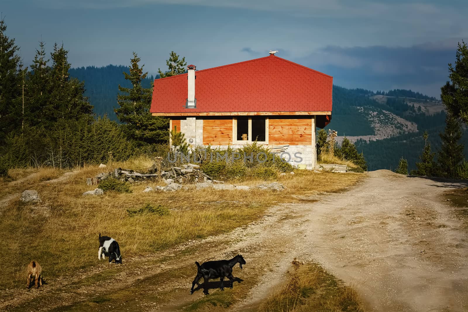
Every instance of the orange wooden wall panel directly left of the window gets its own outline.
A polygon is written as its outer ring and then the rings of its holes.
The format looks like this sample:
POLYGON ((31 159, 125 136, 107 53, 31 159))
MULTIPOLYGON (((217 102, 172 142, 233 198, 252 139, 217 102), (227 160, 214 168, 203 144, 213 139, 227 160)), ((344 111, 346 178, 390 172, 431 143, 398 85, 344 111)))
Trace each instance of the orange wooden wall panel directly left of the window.
POLYGON ((204 119, 203 145, 232 145, 233 120, 232 119, 204 119))

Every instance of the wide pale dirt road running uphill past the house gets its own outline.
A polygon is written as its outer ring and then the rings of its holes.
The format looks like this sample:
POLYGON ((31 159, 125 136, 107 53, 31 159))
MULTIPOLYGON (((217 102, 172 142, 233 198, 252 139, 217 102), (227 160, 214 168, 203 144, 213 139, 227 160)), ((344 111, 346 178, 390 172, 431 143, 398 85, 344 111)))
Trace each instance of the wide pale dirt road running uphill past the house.
POLYGON ((39 290, 7 290, 0 310, 177 311, 205 296, 189 292, 195 260, 241 253, 247 265, 235 269, 243 281, 234 290, 244 292, 229 311, 255 311, 294 257, 352 283, 370 311, 468 311, 468 229, 440 196, 465 186, 374 171, 347 192, 273 207, 233 232, 118 267, 90 259, 92 268, 39 290))

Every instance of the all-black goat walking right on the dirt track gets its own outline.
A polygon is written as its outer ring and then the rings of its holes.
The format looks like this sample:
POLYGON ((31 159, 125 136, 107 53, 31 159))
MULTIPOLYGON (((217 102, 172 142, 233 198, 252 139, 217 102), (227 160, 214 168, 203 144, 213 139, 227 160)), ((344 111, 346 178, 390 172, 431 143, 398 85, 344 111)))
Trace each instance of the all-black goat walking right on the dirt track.
POLYGON ((233 267, 236 263, 239 263, 239 267, 242 269, 242 264, 245 264, 244 258, 238 254, 231 260, 218 260, 218 261, 207 261, 200 265, 197 261, 195 264, 197 265, 197 276, 192 282, 192 289, 190 290, 190 295, 193 294, 193 288, 195 284, 198 283, 200 278, 203 277, 203 293, 208 295, 208 288, 207 283, 209 279, 214 279, 219 277, 219 281, 221 282, 221 290, 224 290, 224 278, 227 277, 231 281, 231 289, 233 288, 234 284, 234 277, 233 267))

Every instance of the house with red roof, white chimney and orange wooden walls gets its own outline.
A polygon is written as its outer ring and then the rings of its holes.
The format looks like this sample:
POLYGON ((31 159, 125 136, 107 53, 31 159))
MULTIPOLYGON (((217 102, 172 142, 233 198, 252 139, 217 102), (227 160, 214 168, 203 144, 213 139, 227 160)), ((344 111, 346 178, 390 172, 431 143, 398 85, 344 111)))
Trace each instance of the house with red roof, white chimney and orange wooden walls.
POLYGON ((154 80, 151 113, 191 147, 280 146, 293 165, 316 163, 316 127, 331 120, 333 77, 274 54, 154 80), (296 157, 299 156, 299 157, 296 157))

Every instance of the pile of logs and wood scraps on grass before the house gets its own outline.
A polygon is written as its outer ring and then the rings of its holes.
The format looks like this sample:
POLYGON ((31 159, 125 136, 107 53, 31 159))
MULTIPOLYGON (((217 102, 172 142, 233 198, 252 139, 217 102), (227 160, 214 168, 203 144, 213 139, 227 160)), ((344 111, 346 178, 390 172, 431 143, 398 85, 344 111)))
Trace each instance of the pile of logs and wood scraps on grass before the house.
POLYGON ((135 183, 136 181, 146 181, 147 179, 152 178, 163 178, 163 179, 173 179, 176 182, 182 183, 184 180, 188 181, 194 179, 196 181, 202 180, 212 180, 213 182, 223 183, 222 181, 213 180, 208 174, 203 173, 200 170, 200 166, 195 164, 183 165, 183 167, 167 167, 161 168, 158 170, 156 165, 153 165, 148 169, 148 173, 140 173, 132 169, 116 168, 114 171, 103 172, 96 175, 94 178, 86 179, 86 184, 96 185, 100 181, 116 178, 120 181, 127 181, 130 183, 135 183), (158 172, 159 171, 159 172, 158 172))

